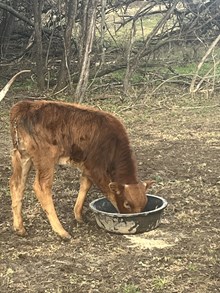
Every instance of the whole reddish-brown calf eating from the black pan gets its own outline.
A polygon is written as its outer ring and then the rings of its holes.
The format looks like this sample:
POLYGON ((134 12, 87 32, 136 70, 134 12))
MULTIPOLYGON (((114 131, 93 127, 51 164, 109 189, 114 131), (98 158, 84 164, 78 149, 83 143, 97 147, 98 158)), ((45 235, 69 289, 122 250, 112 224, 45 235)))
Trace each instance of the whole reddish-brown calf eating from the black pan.
POLYGON ((25 100, 12 107, 10 123, 14 146, 10 189, 14 229, 19 234, 25 234, 21 202, 32 165, 37 198, 53 230, 63 238, 70 236, 57 217, 51 193, 56 164, 82 171, 74 207, 78 221, 93 183, 120 212, 140 212, 146 205, 146 189, 152 182, 138 182, 126 130, 113 115, 76 104, 25 100))

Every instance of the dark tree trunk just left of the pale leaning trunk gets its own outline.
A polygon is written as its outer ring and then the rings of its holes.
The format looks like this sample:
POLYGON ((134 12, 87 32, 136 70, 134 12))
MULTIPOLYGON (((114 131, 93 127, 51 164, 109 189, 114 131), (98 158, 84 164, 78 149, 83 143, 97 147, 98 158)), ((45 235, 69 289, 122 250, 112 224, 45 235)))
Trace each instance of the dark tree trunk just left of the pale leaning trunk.
POLYGON ((66 86, 67 81, 69 81, 70 87, 72 87, 71 77, 70 77, 70 59, 71 59, 71 38, 72 31, 75 25, 75 18, 77 13, 77 0, 66 1, 67 16, 66 16, 66 29, 64 32, 63 40, 63 56, 60 65, 58 81, 56 90, 61 90, 66 86))

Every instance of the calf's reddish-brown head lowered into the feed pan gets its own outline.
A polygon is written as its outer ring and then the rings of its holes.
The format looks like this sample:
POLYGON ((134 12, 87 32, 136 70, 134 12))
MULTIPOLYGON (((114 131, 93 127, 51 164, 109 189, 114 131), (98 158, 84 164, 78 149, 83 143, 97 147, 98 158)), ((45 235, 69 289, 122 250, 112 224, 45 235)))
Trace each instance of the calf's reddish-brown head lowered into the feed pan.
POLYGON ((109 198, 120 213, 140 213, 147 204, 146 192, 154 181, 139 182, 137 184, 109 183, 113 196, 109 198))

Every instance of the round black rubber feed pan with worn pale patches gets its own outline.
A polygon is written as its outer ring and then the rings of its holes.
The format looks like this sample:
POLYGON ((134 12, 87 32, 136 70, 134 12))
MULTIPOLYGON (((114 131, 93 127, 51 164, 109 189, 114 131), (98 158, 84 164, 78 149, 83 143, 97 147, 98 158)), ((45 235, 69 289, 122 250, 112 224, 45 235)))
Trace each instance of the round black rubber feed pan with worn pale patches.
POLYGON ((167 206, 162 197, 147 194, 148 203, 141 213, 120 214, 105 198, 99 198, 90 203, 99 227, 118 234, 143 233, 157 228, 161 215, 167 206))

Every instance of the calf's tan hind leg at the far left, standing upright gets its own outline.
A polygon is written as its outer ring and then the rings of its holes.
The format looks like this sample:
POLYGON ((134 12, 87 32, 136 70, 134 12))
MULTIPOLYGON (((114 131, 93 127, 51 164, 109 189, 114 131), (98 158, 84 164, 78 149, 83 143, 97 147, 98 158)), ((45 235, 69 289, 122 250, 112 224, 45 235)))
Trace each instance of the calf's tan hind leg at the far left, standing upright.
POLYGON ((26 230, 22 219, 22 199, 25 190, 28 173, 32 166, 31 158, 25 153, 13 150, 12 168, 13 173, 10 178, 10 192, 12 199, 13 227, 17 234, 24 236, 26 230))

